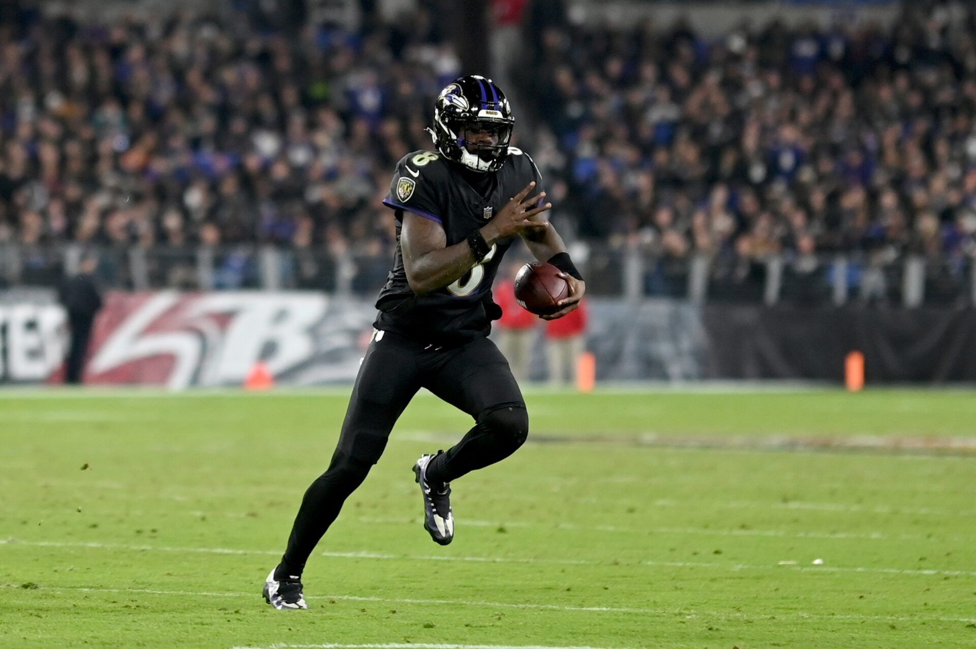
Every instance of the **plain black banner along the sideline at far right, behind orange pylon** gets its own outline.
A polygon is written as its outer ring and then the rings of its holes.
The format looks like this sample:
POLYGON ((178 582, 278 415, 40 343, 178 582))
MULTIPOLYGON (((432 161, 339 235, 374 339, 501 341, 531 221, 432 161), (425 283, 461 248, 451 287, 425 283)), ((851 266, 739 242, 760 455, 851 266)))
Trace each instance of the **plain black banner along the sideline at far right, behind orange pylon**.
POLYGON ((865 356, 868 383, 976 381, 976 309, 709 304, 705 376, 842 381, 865 356))

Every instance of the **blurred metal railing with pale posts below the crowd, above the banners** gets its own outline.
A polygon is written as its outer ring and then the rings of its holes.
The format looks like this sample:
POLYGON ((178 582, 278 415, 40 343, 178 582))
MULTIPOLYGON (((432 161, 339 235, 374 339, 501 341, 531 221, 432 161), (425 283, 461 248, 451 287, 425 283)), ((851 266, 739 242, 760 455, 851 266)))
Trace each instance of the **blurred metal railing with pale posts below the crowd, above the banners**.
MULTIPOLYGON (((106 289, 319 290, 375 295, 386 282, 388 253, 333 254, 271 246, 82 248, 0 244, 0 288, 54 287, 77 272, 84 256, 98 259, 106 289)), ((639 247, 577 245, 592 296, 673 298, 701 304, 863 303, 976 305, 971 258, 878 259, 865 254, 771 256, 690 255, 671 258, 639 247)))

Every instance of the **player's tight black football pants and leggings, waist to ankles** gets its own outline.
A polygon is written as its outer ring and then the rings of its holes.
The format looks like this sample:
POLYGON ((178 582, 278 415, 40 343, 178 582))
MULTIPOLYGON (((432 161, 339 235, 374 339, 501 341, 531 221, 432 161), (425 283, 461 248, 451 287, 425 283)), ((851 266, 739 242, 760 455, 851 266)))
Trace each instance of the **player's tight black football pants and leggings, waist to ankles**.
POLYGON ((525 402, 494 343, 479 338, 441 348, 377 332, 352 388, 332 462, 305 492, 279 577, 301 575, 312 549, 380 460, 390 430, 421 387, 468 413, 475 423, 461 441, 431 461, 429 480, 450 482, 507 458, 525 442, 525 402))

